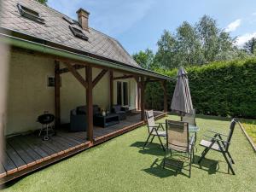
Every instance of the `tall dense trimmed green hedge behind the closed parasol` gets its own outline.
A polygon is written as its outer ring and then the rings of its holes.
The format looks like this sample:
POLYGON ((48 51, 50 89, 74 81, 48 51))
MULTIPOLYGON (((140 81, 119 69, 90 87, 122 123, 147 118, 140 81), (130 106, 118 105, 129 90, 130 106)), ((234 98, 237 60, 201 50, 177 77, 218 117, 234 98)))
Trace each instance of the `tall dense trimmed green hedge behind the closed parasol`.
MULTIPOLYGON (((159 73, 175 77, 177 69, 159 73)), ((213 62, 186 68, 192 102, 197 113, 218 116, 256 118, 256 59, 213 62)), ((167 84, 168 108, 176 81, 167 84)), ((160 84, 146 88, 146 108, 163 109, 160 84)))

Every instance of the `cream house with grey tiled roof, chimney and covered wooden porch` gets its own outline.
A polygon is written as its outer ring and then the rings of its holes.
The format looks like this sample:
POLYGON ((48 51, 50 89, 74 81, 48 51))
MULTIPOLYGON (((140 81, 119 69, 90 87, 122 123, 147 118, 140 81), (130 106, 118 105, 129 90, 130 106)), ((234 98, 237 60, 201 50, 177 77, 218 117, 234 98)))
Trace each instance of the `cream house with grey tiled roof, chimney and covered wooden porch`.
MULTIPOLYGON (((75 150, 69 148, 24 166, 13 162, 11 170, 2 162, 3 182, 96 144, 93 105, 111 110, 119 104, 139 112, 139 120, 108 132, 100 142, 143 125, 144 90, 150 82, 163 85, 166 113, 169 77, 143 69, 116 39, 91 28, 89 12, 79 9, 78 20, 73 20, 32 0, 1 3, 0 41, 10 46, 5 136, 38 130, 37 117, 44 111, 55 114, 56 128, 68 124, 70 111, 78 106, 86 106, 87 125, 81 148, 75 146, 75 150)), ((15 148, 12 143, 7 147, 15 148)))

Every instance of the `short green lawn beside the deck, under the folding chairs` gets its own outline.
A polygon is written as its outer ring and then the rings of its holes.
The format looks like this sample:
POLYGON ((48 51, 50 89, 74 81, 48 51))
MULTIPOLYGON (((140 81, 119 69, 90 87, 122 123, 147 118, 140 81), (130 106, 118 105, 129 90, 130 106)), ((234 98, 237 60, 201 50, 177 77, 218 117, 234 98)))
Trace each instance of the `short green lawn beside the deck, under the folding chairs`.
MULTIPOLYGON (((169 116, 169 119, 177 119, 169 116)), ((164 119, 160 119, 164 121, 164 119)), ((198 143, 207 129, 228 132, 225 119, 197 119, 196 160, 201 155, 198 143)), ((163 151, 157 139, 143 149, 147 137, 145 126, 116 137, 107 143, 90 148, 67 160, 34 172, 9 183, 3 191, 255 191, 256 154, 236 125, 230 153, 236 164, 236 175, 227 174, 221 154, 210 152, 201 166, 192 166, 191 178, 183 173, 162 169, 163 151)))

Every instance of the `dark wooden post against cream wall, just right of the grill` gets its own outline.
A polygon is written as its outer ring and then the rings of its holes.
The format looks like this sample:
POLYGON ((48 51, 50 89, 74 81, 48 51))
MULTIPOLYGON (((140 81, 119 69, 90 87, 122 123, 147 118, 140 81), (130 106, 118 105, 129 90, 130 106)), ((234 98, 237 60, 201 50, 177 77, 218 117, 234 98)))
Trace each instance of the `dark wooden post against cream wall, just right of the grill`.
POLYGON ((61 125, 61 75, 60 62, 55 61, 55 128, 61 125))

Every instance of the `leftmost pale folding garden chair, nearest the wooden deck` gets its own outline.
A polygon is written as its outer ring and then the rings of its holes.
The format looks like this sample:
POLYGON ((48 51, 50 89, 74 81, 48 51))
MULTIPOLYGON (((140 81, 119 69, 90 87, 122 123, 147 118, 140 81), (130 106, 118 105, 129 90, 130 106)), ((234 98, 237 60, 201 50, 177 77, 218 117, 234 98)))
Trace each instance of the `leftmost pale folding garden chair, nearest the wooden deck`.
POLYGON ((152 136, 152 139, 151 139, 150 143, 153 142, 154 137, 156 136, 159 138, 160 144, 161 144, 162 148, 165 150, 165 147, 160 139, 160 137, 166 137, 166 131, 165 131, 163 124, 155 123, 153 110, 146 111, 146 119, 147 119, 147 123, 148 123, 148 138, 147 138, 143 148, 146 147, 146 145, 148 144, 148 140, 151 136, 152 136), (162 129, 162 131, 159 131, 160 128, 162 129))

